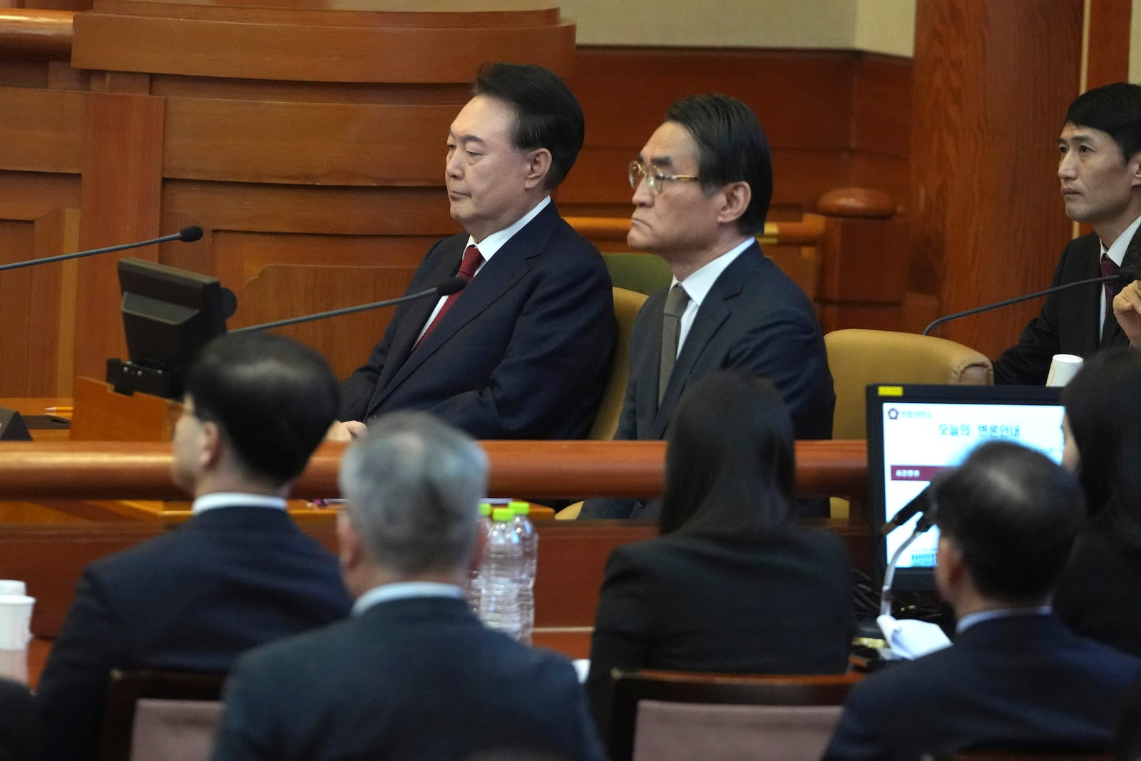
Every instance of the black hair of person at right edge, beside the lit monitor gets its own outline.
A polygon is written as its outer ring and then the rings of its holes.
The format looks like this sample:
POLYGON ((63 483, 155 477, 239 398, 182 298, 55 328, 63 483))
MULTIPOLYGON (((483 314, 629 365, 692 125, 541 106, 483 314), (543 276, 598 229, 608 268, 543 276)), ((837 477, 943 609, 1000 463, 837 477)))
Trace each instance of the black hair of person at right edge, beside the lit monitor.
POLYGON ((1062 390, 1081 462, 1077 479, 1093 515, 1141 548, 1141 353, 1099 351, 1062 390))

